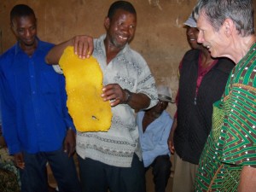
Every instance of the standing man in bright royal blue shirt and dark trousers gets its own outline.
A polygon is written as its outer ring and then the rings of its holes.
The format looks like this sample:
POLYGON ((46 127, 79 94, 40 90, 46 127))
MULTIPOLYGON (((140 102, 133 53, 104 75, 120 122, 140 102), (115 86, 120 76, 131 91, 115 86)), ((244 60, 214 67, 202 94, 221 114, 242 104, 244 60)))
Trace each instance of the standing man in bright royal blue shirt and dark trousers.
POLYGON ((59 191, 79 192, 65 79, 44 62, 53 44, 38 39, 30 7, 15 5, 10 21, 18 42, 0 57, 0 93, 3 137, 20 168, 21 191, 48 190, 49 162, 59 191))

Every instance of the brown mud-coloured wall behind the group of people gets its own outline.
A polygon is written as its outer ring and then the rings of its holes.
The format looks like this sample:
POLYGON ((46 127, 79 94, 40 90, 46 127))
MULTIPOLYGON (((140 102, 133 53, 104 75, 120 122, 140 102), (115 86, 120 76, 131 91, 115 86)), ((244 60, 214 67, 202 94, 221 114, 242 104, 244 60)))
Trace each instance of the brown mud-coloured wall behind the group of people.
MULTIPOLYGON (((196 0, 131 0, 137 9, 137 33, 131 47, 140 52, 157 84, 168 85, 177 93, 177 67, 189 49, 183 22, 196 0)), ((26 3, 38 18, 38 37, 54 44, 79 34, 99 37, 105 32, 103 20, 111 0, 0 0, 0 54, 15 44, 9 26, 9 11, 26 3)), ((255 3, 254 3, 255 7, 255 3)), ((170 105, 173 114, 176 107, 170 105)))

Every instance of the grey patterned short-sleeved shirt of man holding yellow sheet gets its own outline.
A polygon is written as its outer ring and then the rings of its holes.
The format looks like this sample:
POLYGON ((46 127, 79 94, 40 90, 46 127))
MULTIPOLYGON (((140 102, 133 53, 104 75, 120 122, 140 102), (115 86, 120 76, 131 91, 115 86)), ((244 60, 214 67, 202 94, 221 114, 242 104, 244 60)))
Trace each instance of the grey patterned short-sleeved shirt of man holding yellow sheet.
MULTIPOLYGON (((119 84, 123 89, 140 92, 150 99, 152 108, 157 102, 154 77, 146 61, 128 44, 108 63, 103 40, 94 40, 93 55, 103 73, 103 84, 119 84)), ((134 110, 127 104, 112 109, 113 118, 108 132, 77 132, 77 153, 81 158, 99 160, 110 166, 131 167, 134 153, 142 159, 138 144, 138 128, 134 110)))

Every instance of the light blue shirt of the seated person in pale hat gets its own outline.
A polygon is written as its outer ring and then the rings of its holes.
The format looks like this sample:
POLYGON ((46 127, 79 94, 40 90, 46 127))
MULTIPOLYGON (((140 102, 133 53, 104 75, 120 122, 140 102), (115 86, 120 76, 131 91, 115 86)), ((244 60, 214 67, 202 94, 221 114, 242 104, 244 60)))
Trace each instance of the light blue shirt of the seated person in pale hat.
POLYGON ((145 112, 137 113, 137 125, 139 131, 140 144, 143 150, 144 166, 150 166, 159 155, 171 155, 167 140, 172 128, 172 118, 169 113, 163 111, 158 119, 148 125, 143 132, 143 117, 145 112))

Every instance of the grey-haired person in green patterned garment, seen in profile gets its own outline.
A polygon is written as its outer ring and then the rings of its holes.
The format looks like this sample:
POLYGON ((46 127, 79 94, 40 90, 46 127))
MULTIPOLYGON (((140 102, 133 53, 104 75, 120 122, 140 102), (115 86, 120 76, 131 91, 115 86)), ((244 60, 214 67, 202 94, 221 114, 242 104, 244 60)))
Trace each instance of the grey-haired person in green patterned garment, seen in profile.
POLYGON ((256 38, 252 0, 200 0, 199 34, 213 57, 236 63, 213 105, 212 131, 201 154, 195 191, 256 189, 256 38))

